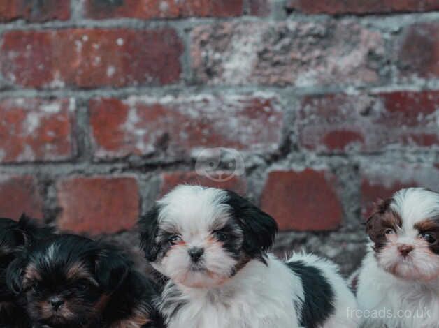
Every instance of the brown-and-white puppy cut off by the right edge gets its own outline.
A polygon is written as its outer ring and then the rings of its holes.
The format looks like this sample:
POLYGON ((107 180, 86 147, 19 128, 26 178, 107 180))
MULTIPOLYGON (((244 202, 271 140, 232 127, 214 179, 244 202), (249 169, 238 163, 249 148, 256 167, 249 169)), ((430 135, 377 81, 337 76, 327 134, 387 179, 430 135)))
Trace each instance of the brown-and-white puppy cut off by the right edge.
POLYGON ((398 191, 376 205, 367 232, 372 247, 352 279, 364 327, 439 327, 439 194, 398 191))

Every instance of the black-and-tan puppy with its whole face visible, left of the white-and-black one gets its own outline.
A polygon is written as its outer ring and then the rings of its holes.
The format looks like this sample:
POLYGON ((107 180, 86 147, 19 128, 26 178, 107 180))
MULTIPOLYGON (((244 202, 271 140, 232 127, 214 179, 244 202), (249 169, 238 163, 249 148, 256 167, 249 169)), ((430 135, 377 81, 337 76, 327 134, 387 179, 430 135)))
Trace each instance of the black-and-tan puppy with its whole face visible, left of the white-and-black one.
POLYGON ((123 253, 85 237, 35 245, 10 264, 7 282, 34 327, 162 327, 155 285, 123 253))

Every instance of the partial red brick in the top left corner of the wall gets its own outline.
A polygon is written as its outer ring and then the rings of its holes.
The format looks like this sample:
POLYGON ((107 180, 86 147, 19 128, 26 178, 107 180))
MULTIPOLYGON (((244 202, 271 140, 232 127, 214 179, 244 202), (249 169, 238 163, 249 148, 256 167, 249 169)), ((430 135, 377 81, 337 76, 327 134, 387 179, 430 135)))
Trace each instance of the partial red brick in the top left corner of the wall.
POLYGON ((0 0, 0 22, 69 20, 70 0, 0 0))

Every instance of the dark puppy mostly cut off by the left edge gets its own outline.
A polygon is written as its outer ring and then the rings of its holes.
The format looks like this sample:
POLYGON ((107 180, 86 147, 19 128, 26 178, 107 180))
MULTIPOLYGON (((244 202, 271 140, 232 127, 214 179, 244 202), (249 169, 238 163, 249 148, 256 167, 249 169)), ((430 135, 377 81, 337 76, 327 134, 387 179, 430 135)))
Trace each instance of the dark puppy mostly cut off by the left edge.
POLYGON ((50 234, 52 228, 38 225, 25 214, 18 222, 0 218, 0 327, 29 327, 17 297, 6 285, 6 269, 22 248, 50 234))

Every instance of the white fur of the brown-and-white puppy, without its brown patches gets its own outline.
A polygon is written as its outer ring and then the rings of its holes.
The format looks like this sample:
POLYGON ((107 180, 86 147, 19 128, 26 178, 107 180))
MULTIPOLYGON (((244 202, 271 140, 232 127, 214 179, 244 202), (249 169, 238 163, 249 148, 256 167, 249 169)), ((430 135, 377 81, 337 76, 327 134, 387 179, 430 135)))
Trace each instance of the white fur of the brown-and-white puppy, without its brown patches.
POLYGON ((375 254, 370 244, 357 284, 360 309, 384 318, 365 319, 364 327, 437 328, 439 255, 428 252, 414 225, 439 215, 439 194, 422 188, 405 189, 394 195, 391 208, 401 216, 402 228, 388 238, 379 253, 375 254), (414 246, 408 259, 402 259, 396 250, 399 244, 414 246), (388 271, 395 265, 398 276, 388 271))

